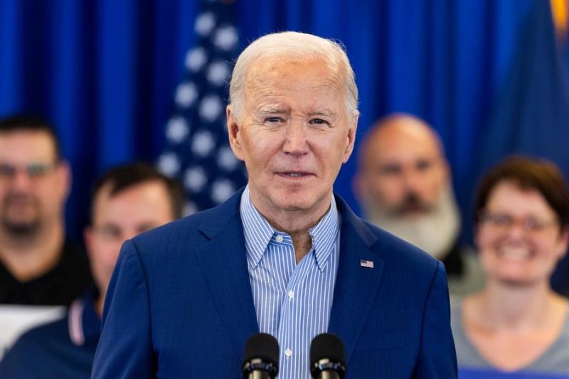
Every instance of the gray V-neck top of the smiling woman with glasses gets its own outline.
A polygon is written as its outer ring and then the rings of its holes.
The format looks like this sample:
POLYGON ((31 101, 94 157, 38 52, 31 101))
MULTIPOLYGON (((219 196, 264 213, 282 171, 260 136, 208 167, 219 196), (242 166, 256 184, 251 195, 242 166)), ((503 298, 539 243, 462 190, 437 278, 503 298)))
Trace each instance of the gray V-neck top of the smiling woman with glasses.
MULTIPOLYGON (((460 368, 483 368, 499 370, 486 361, 472 345, 462 325, 462 301, 451 301, 451 327, 457 361, 460 368)), ((535 361, 519 370, 524 373, 569 374, 569 319, 553 344, 535 361)))

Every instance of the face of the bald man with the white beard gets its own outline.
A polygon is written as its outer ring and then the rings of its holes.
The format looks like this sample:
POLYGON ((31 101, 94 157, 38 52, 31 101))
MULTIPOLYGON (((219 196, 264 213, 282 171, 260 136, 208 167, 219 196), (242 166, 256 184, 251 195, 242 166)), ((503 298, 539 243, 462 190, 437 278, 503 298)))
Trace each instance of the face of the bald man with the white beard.
POLYGON ((437 141, 422 128, 378 130, 368 141, 363 160, 362 196, 393 217, 426 215, 449 183, 437 141))

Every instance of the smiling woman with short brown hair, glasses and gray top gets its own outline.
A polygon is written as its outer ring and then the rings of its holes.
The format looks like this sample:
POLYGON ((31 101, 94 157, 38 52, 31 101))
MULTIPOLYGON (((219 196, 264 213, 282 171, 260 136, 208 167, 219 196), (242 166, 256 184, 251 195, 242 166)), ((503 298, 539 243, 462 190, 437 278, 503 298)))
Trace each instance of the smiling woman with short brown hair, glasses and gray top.
POLYGON ((459 377, 569 378, 569 302, 549 284, 568 246, 567 183, 551 162, 513 156, 482 178, 475 207, 487 282, 452 306, 459 377))

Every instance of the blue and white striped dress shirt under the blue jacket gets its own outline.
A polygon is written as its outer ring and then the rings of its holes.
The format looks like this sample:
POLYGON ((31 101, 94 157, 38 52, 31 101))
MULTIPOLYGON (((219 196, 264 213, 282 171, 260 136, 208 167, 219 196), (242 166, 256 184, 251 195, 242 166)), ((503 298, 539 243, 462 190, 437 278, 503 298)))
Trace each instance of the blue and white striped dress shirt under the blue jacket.
POLYGON ((310 378, 312 338, 328 330, 338 271, 340 217, 334 196, 324 217, 309 229, 312 248, 296 263, 292 237, 252 205, 249 188, 240 203, 249 279, 260 331, 280 348, 280 379, 310 378))

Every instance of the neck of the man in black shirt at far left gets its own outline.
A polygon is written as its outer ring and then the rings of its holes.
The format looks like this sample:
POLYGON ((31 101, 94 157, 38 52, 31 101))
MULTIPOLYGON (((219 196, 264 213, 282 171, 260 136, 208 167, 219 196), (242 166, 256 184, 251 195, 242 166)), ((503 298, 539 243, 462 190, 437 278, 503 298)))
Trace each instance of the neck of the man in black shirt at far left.
POLYGON ((58 264, 64 242, 63 221, 35 235, 14 236, 0 231, 0 262, 19 282, 29 282, 58 264))

